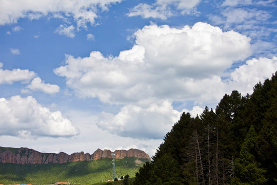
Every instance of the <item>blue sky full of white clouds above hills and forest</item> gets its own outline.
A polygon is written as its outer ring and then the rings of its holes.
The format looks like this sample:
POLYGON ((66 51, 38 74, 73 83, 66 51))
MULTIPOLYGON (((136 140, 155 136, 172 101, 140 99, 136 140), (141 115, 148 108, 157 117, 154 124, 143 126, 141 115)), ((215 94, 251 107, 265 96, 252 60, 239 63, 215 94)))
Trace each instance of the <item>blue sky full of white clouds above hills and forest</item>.
POLYGON ((275 71, 276 0, 0 0, 0 146, 152 156, 275 71))

